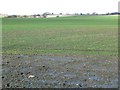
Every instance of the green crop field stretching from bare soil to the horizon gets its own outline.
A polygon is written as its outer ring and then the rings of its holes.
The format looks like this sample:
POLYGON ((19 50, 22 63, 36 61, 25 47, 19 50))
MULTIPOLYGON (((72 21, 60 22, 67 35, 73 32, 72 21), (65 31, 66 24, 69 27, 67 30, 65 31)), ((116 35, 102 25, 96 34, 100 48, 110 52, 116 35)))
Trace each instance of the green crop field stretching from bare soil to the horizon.
POLYGON ((3 18, 3 54, 118 54, 117 16, 3 18))

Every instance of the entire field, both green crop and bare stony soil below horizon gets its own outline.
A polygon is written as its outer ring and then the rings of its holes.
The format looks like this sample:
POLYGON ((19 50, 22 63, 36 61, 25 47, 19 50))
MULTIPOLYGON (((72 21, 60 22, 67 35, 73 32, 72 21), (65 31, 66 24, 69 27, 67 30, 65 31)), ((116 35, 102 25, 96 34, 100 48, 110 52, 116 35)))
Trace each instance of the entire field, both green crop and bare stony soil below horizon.
POLYGON ((117 16, 2 19, 3 87, 117 87, 117 20, 117 16), (23 82, 18 82, 21 72, 23 82), (29 85, 25 78, 30 73, 39 79, 27 78, 29 85))

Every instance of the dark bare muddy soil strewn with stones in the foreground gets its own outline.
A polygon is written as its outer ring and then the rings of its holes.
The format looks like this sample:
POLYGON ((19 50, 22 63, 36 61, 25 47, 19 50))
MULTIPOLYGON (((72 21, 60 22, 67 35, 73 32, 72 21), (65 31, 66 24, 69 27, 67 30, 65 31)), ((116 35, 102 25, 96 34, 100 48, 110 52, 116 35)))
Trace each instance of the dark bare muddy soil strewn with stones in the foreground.
POLYGON ((115 56, 3 55, 3 88, 117 88, 115 56))

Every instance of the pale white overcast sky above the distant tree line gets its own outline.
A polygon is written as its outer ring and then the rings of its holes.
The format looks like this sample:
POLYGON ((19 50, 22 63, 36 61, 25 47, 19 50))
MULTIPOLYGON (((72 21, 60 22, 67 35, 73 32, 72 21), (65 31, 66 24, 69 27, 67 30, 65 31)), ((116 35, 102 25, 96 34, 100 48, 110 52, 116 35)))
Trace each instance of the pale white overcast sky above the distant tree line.
POLYGON ((120 0, 0 0, 3 14, 117 12, 120 0))

